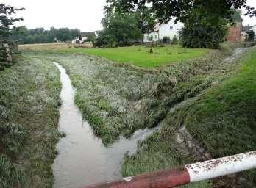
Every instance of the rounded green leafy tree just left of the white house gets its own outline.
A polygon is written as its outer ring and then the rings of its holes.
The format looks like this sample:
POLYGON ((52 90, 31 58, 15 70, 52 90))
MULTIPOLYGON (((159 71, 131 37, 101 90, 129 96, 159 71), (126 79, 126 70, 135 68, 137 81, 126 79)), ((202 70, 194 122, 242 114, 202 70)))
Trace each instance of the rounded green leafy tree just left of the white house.
POLYGON ((134 12, 107 12, 102 19, 102 25, 104 29, 99 38, 108 46, 129 46, 142 38, 134 12))

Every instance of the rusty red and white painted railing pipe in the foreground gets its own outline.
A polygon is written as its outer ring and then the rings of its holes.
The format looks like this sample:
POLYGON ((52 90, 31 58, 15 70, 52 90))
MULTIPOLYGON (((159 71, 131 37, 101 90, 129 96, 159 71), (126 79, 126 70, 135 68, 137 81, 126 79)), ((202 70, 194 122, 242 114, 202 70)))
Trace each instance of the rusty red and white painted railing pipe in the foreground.
POLYGON ((148 173, 84 188, 171 188, 254 168, 256 168, 256 151, 188 164, 180 170, 148 173))

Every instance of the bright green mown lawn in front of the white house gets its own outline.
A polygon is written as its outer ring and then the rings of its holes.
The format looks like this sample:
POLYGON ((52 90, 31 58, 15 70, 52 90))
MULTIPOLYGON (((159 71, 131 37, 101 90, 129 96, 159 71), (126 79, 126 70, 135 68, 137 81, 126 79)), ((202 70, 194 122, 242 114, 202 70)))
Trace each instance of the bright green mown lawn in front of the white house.
POLYGON ((132 46, 119 48, 72 48, 64 51, 93 54, 114 62, 129 63, 143 68, 156 68, 171 62, 193 59, 210 51, 209 49, 182 48, 177 45, 153 48, 153 54, 150 54, 149 50, 150 48, 145 46, 132 46))

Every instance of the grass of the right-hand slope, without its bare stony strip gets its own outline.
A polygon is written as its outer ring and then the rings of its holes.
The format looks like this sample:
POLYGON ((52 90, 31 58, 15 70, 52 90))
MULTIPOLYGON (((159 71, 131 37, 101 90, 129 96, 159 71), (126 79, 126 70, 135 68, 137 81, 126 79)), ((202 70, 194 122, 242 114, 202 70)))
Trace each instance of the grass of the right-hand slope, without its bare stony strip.
MULTIPOLYGON (((207 90, 198 100, 169 113, 163 129, 143 142, 135 156, 127 156, 124 176, 193 162, 193 157, 182 152, 176 142, 175 132, 182 125, 203 143, 213 158, 255 150, 255 75, 256 48, 246 55, 233 76, 207 90)), ((248 177, 243 187, 256 184, 255 171, 245 176, 248 177)))

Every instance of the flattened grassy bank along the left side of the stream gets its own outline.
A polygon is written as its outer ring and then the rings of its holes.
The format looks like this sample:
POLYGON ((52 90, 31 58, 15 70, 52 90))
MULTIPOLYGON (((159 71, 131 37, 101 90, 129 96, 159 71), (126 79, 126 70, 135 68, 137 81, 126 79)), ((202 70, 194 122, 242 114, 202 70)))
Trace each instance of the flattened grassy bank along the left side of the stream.
POLYGON ((20 57, 0 72, 0 187, 51 187, 60 73, 20 57))

